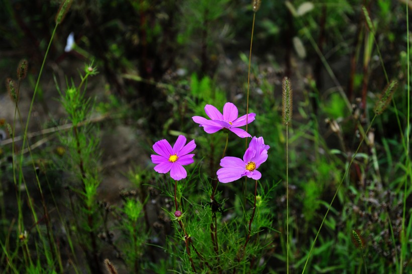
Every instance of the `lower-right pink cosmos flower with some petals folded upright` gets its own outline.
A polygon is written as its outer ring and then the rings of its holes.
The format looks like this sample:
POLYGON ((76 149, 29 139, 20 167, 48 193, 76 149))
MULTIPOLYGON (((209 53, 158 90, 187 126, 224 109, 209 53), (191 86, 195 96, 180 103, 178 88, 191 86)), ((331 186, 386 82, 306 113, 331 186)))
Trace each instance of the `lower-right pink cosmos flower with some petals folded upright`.
POLYGON ((259 166, 267 160, 268 145, 265 145, 263 137, 253 137, 246 149, 243 160, 237 157, 224 157, 220 161, 220 168, 217 172, 220 182, 231 182, 240 179, 242 176, 258 180, 262 174, 257 170, 259 166))

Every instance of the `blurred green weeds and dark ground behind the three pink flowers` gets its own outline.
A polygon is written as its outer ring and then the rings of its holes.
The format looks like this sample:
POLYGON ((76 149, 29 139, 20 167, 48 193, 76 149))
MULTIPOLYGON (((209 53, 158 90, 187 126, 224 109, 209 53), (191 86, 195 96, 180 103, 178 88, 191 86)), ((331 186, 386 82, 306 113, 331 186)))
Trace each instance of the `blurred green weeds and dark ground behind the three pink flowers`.
MULTIPOLYGON (((179 191, 187 229, 211 262, 203 272, 232 272, 247 231, 238 222, 244 218, 242 187, 218 185, 223 206, 217 213, 218 261, 208 246, 208 203, 226 135, 204 133, 191 117, 204 116, 206 104, 222 110, 226 102, 246 112, 253 11, 246 0, 212 2, 73 1, 39 82, 27 136, 32 156, 22 147, 24 125, 61 2, 0 3, 0 74, 15 78, 19 60, 28 60, 27 79, 19 85, 22 122, 14 122, 16 104, 6 87, 0 88, 2 272, 101 273, 105 258, 120 273, 189 272, 182 235, 170 215, 173 184, 154 174, 149 160, 155 141, 179 134, 197 144, 190 179, 179 191), (65 51, 71 33, 74 43, 65 51), (97 67, 100 73, 79 88, 92 72, 87 72, 92 60, 92 71, 97 67), (56 83, 67 86, 62 99, 56 83), (66 98, 71 88, 79 96, 72 99, 82 101, 66 98), (67 107, 82 115, 76 118, 67 107), (22 151, 17 166, 13 156, 22 151), (16 185, 14 174, 26 186, 16 185)), ((384 0, 262 1, 249 100, 249 113, 257 116, 248 131, 271 148, 259 169, 256 233, 239 270, 286 272, 286 136, 280 113, 281 80, 288 76, 294 90, 288 136, 290 272, 303 269, 375 102, 393 79, 398 82, 393 100, 354 158, 305 271, 364 271, 351 242, 356 230, 365 240, 368 272, 407 273, 412 221, 406 206, 411 204, 406 8, 404 1, 384 0)), ((226 155, 243 153, 243 144, 230 136, 226 155)))

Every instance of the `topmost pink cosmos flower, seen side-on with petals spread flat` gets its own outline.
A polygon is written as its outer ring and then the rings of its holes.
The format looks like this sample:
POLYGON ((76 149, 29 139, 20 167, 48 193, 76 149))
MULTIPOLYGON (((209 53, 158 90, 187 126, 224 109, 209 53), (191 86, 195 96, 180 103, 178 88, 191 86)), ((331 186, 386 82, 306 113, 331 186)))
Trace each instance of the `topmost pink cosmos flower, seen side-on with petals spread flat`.
MULTIPOLYGON (((204 117, 193 116, 192 119, 195 123, 199 124, 199 127, 203 127, 204 131, 207 133, 215 133, 223 128, 227 128, 240 138, 252 137, 245 130, 238 127, 246 125, 246 115, 238 118, 238 109, 232 103, 226 103, 223 107, 222 113, 212 105, 206 105, 204 107, 204 112, 209 116, 211 120, 204 117)), ((255 120, 255 113, 249 113, 248 124, 255 120)))

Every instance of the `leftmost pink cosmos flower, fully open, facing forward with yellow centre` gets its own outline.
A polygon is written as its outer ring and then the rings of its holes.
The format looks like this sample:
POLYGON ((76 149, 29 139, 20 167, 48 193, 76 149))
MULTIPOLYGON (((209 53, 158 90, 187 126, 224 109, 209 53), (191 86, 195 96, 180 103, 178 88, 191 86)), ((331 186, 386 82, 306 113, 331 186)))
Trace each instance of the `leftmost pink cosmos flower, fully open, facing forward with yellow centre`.
POLYGON ((187 172, 183 165, 191 164, 193 162, 194 154, 192 152, 196 147, 194 140, 191 140, 186 145, 186 137, 179 135, 176 143, 172 146, 165 139, 157 141, 153 145, 153 150, 159 154, 152 154, 152 162, 157 164, 154 167, 159 173, 167 173, 170 171, 170 177, 175 180, 186 178, 187 172))

